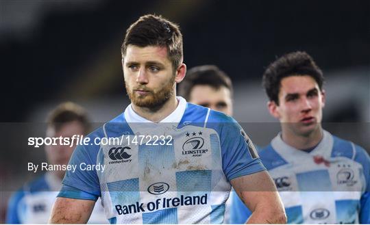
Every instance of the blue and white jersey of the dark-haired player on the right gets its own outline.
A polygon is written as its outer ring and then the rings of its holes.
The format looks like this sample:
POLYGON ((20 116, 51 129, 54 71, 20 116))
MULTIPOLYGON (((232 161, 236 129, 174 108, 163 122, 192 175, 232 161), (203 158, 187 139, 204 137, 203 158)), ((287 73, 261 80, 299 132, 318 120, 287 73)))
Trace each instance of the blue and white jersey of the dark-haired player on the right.
MULTIPOLYGON (((369 224, 370 158, 366 151, 327 131, 310 153, 277 135, 260 157, 275 181, 290 224, 369 224)), ((251 212, 232 194, 231 223, 251 212)))

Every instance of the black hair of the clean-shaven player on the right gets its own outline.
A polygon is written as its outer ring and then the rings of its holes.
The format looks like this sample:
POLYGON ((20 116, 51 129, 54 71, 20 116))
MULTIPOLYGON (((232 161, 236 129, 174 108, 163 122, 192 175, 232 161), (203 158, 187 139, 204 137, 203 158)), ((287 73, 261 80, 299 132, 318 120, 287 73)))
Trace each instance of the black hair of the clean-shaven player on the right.
POLYGON ((312 77, 319 85, 320 90, 322 90, 324 77, 319 66, 316 65, 308 53, 295 51, 276 59, 264 71, 262 85, 270 101, 274 101, 279 105, 279 92, 282 79, 297 75, 308 75, 312 77))

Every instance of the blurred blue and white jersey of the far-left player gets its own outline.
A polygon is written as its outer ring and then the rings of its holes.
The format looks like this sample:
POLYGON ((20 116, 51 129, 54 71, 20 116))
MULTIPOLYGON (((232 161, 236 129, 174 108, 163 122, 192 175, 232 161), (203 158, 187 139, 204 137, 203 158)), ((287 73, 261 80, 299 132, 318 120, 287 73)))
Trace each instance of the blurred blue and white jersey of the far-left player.
MULTIPOLYGON (((60 179, 50 172, 23 185, 10 198, 5 222, 7 224, 47 224, 51 208, 58 195, 56 190, 61 187, 60 179)), ((101 204, 96 204, 88 222, 107 224, 108 220, 103 213, 101 204)))

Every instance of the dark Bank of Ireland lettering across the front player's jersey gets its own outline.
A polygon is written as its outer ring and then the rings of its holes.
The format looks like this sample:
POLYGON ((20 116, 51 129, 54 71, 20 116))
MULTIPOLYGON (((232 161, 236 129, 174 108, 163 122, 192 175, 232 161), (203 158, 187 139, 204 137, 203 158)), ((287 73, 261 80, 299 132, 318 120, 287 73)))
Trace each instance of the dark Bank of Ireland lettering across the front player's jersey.
POLYGON ((182 207, 184 205, 199 205, 207 204, 208 196, 184 196, 181 195, 179 198, 158 198, 156 201, 140 203, 135 202, 134 204, 116 204, 114 207, 119 215, 127 215, 131 213, 140 213, 146 211, 156 211, 158 209, 168 209, 173 207, 182 207))

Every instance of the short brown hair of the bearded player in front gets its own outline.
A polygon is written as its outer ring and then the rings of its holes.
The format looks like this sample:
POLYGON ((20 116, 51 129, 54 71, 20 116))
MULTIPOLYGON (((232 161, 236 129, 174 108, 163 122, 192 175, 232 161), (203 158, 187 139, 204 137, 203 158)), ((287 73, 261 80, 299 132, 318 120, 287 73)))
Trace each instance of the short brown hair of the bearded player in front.
POLYGON ((152 14, 141 16, 127 29, 125 40, 121 46, 122 57, 125 57, 127 47, 130 44, 138 47, 167 47, 173 68, 177 68, 182 62, 180 27, 162 16, 152 14))

